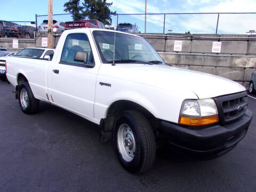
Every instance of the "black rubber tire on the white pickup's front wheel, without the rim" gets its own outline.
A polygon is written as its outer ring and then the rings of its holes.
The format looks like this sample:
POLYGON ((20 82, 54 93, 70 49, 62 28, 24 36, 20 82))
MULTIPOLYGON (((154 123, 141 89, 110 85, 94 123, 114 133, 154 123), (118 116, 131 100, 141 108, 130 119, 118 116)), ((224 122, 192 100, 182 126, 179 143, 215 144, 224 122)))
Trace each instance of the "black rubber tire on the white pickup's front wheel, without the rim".
POLYGON ((142 173, 150 169, 155 162, 155 136, 148 119, 138 111, 123 111, 123 113, 117 117, 114 124, 113 145, 119 161, 127 171, 142 173), (133 153, 134 157, 132 157, 133 159, 131 161, 126 161, 123 158, 121 150, 119 150, 118 147, 118 130, 122 129, 121 127, 124 124, 129 126, 134 137, 135 152, 133 153))

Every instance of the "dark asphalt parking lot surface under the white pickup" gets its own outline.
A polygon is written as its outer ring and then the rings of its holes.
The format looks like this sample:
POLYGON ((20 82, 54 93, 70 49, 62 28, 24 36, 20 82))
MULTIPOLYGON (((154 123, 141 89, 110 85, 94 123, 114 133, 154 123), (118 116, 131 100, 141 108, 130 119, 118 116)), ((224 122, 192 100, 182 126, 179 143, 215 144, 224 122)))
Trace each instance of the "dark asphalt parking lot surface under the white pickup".
MULTIPOLYGON (((134 175, 111 142, 99 141, 97 125, 45 102, 25 115, 12 85, 0 81, 0 89, 0 191, 256 191, 255 116, 222 157, 192 161, 166 146, 152 169, 134 175)), ((248 100, 255 115, 256 100, 248 100)))

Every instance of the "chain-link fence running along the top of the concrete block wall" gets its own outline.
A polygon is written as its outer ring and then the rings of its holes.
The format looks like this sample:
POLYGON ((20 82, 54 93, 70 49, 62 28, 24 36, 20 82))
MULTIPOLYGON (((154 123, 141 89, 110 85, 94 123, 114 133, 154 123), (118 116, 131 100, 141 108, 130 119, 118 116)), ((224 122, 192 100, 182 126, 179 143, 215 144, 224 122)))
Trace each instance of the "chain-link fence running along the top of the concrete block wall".
MULTIPOLYGON (((95 19, 100 17, 91 15, 95 19)), ((63 31, 65 22, 81 18, 88 19, 89 15, 53 14, 53 32, 63 31)), ((145 14, 110 14, 110 18, 112 25, 131 23, 140 33, 253 34, 256 12, 148 13, 146 17, 145 14)), ((47 20, 48 15, 36 14, 35 21, 0 21, 0 37, 35 38, 37 31, 48 33, 47 20)))

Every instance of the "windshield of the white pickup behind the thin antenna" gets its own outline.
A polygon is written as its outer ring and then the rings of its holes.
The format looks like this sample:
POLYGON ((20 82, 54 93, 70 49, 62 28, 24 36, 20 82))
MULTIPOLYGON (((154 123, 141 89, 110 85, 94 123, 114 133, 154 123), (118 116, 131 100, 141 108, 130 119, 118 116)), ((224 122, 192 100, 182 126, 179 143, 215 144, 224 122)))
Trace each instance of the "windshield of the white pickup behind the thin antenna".
POLYGON ((115 60, 115 63, 139 62, 148 64, 163 64, 161 57, 143 38, 99 30, 93 31, 93 37, 103 63, 110 63, 115 60))

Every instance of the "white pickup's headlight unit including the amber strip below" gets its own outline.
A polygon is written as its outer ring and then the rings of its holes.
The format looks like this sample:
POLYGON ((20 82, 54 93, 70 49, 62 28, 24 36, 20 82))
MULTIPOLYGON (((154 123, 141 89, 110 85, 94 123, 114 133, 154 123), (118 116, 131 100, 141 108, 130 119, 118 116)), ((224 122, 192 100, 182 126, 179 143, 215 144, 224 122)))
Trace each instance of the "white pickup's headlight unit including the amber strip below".
POLYGON ((180 124, 202 126, 217 122, 219 122, 218 109, 212 98, 183 101, 180 124))

